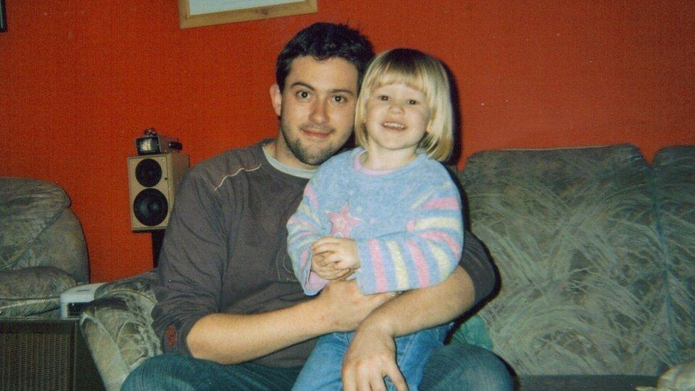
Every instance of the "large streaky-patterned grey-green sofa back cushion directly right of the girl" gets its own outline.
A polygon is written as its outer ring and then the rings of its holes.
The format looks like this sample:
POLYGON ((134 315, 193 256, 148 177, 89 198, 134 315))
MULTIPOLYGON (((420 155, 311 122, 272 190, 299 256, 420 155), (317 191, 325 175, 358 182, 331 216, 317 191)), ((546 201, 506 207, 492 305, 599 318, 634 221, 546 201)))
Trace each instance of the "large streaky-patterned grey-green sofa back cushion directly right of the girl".
POLYGON ((632 145, 479 152, 461 174, 500 271, 480 311, 519 375, 658 375, 669 346, 649 166, 632 145))

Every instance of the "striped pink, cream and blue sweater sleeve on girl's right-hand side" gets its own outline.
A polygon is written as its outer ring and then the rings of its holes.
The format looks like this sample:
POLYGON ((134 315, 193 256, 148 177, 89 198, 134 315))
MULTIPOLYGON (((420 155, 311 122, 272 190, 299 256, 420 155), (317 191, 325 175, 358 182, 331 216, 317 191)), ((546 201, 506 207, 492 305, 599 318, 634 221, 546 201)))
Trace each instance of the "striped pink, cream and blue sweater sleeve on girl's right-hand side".
POLYGON ((461 198, 447 177, 430 187, 414 204, 404 205, 412 217, 403 231, 357 241, 362 293, 407 291, 444 281, 459 264, 464 243, 461 198))

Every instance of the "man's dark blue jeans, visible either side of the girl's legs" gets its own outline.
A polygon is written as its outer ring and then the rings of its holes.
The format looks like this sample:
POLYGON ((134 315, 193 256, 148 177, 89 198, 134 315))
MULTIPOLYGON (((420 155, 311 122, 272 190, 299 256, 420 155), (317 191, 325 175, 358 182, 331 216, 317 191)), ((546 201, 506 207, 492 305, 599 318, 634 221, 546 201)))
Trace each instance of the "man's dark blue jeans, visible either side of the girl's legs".
MULTIPOLYGON (((221 365, 184 355, 158 355, 130 372, 121 390, 290 390, 300 370, 254 363, 221 365)), ((489 350, 453 343, 437 349, 429 358, 419 389, 513 390, 513 383, 506 366, 489 350)))

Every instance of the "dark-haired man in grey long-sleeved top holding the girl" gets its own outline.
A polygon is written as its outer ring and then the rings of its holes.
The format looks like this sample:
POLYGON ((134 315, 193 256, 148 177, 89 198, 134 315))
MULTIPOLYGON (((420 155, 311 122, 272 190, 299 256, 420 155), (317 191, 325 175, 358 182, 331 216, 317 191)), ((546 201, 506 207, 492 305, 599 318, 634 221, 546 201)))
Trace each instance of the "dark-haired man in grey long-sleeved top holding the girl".
MULTIPOLYGON (((152 311, 164 352, 176 354, 147 360, 125 390, 288 390, 313 339, 348 330, 356 332, 344 389, 385 390, 388 376, 405 390, 393 338, 449 322, 491 291, 491 266, 475 239, 466 240, 464 267, 446 281, 396 297, 363 296, 354 281, 333 281, 308 299, 293 276, 286 221, 313 170, 348 140, 372 56, 369 41, 347 26, 305 28, 278 56, 270 91, 278 137, 187 174, 164 237, 152 311)), ((510 385, 501 362, 470 345, 442 348, 430 361, 423 387, 510 385)))

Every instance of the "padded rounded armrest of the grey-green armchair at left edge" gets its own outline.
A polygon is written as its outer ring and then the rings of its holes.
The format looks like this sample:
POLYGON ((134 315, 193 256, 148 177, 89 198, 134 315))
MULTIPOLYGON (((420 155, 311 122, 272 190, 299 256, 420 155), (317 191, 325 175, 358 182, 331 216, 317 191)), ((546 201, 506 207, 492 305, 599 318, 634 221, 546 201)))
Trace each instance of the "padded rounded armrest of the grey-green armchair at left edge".
POLYGON ((75 278, 51 266, 0 271, 0 317, 53 311, 61 305, 61 293, 76 284, 75 278))

